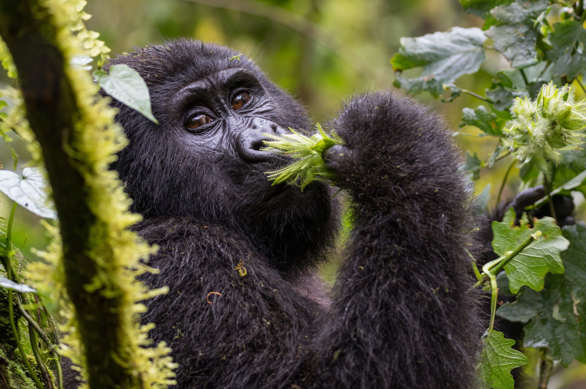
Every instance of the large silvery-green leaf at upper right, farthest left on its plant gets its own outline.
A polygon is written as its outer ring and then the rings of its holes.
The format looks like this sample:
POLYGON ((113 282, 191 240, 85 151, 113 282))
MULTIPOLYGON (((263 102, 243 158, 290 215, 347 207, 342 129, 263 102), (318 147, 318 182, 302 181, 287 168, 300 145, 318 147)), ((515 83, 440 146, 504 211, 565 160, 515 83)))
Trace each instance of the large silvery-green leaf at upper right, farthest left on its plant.
POLYGON ((396 85, 407 88, 409 93, 444 93, 443 84, 478 71, 485 60, 485 40, 481 29, 460 27, 420 37, 402 37, 399 52, 391 58, 393 70, 423 66, 423 71, 414 79, 397 76, 396 85))

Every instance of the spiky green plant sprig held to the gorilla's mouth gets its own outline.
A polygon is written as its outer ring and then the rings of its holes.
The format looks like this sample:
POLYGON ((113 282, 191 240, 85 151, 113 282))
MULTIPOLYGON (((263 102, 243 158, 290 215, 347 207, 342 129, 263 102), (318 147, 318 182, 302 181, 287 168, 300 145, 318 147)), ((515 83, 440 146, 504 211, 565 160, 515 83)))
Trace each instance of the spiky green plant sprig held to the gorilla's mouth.
POLYGON ((325 164, 323 153, 334 145, 343 145, 342 138, 335 131, 328 135, 322 126, 316 124, 318 133, 306 137, 294 129, 289 128, 292 134, 284 134, 280 137, 271 134, 263 134, 265 137, 275 139, 264 141, 267 145, 263 150, 283 153, 291 156, 297 161, 284 168, 265 172, 267 178, 272 180, 272 185, 287 183, 288 185, 301 186, 301 192, 313 180, 331 182, 335 185, 337 175, 335 170, 325 164))

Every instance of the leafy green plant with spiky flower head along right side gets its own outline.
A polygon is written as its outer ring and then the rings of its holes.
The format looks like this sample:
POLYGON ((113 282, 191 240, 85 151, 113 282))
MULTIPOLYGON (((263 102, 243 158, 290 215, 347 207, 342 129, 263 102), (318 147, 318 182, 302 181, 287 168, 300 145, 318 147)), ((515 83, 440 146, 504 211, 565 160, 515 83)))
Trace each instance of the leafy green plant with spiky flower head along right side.
MULTIPOLYGON (((390 62, 396 86, 408 93, 448 94, 442 102, 462 94, 482 100, 462 110, 460 128, 476 127, 480 134, 474 136, 498 138, 498 145, 486 157, 466 153, 462 168, 478 180, 483 168, 510 159, 496 203, 515 163, 522 187, 544 185, 546 196, 525 210, 532 215, 549 203, 553 217, 518 220, 509 210, 492 225, 498 258, 482 271, 475 268, 475 286, 492 294, 478 375, 483 387, 512 389, 510 370, 528 359, 493 329, 499 289, 517 294, 498 315, 526 323, 524 347, 539 348, 542 362, 586 363, 586 226, 580 222, 562 233, 551 201, 553 195, 586 195, 586 100, 575 96, 578 88, 586 94, 586 11, 578 0, 459 1, 465 12, 484 19, 482 29, 454 27, 402 38, 390 62), (486 50, 502 54, 507 69, 483 69, 493 80, 481 92, 458 86, 459 77, 481 69, 486 50)), ((548 373, 540 375, 545 387, 548 373)))

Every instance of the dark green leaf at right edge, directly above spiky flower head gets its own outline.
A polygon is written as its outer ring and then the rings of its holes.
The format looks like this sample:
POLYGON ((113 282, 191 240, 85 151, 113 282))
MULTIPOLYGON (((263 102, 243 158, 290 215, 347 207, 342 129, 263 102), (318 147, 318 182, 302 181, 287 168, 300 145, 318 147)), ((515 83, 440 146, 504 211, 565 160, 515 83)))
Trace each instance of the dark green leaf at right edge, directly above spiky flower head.
POLYGON ((565 74, 568 79, 573 79, 586 67, 586 29, 575 20, 557 22, 553 27, 553 32, 548 35, 553 47, 548 50, 547 59, 553 63, 555 74, 565 74))

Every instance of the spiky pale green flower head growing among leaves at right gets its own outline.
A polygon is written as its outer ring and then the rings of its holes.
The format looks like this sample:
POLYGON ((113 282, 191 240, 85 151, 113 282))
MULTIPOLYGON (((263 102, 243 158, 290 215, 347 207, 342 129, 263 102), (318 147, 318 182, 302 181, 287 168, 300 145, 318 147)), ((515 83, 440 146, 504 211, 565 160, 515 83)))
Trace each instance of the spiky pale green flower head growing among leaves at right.
POLYGON ((534 162, 546 172, 547 162, 560 160, 560 151, 584 143, 586 100, 575 101, 573 87, 544 84, 535 100, 517 97, 511 113, 503 132, 522 163, 534 162))

